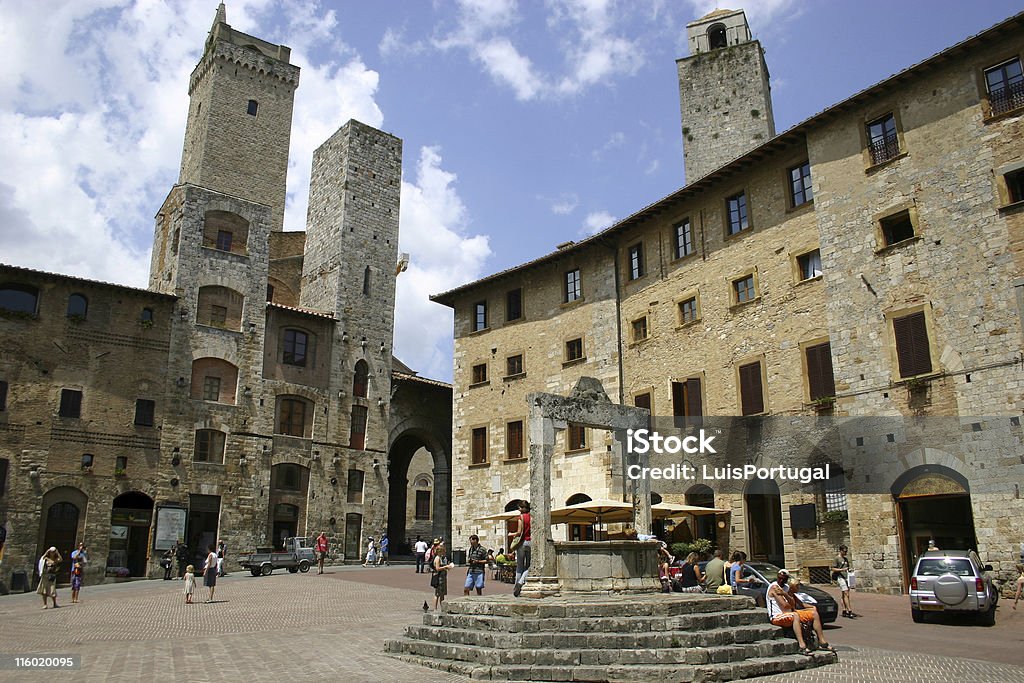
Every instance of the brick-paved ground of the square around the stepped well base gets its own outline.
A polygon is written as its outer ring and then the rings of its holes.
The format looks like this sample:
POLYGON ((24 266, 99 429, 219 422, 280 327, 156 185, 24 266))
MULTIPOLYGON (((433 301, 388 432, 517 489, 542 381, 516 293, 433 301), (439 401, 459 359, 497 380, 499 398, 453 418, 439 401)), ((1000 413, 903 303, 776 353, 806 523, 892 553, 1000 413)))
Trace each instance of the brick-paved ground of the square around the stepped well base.
MULTIPOLYGON (((460 579, 457 570, 453 597, 461 594, 460 579)), ((509 589, 488 580, 485 592, 509 589)), ((433 604, 427 577, 412 567, 333 567, 323 577, 314 571, 258 579, 231 574, 220 581, 213 604, 202 602, 205 593, 199 588, 200 602, 186 605, 181 583, 162 581, 87 586, 78 605, 70 604, 70 597, 61 589, 57 610, 43 610, 34 593, 0 598, 0 653, 81 654, 81 671, 56 674, 66 681, 380 683, 422 679, 426 672, 382 654, 385 640, 419 622, 424 600, 433 604)), ((904 598, 857 600, 855 607, 865 617, 844 621, 843 628, 827 634, 840 647, 838 665, 759 680, 1024 683, 1021 620, 1009 613, 1009 605, 1000 606, 1002 624, 983 629, 912 625, 904 598), (888 638, 879 632, 889 632, 888 638), (903 638, 907 633, 920 640, 903 638), (877 647, 880 640, 889 644, 877 647), (994 656, 981 660, 977 653, 972 658, 970 652, 983 652, 978 648, 992 640, 1006 642, 998 646, 1000 661, 994 656), (926 647, 933 641, 934 647, 926 647), (893 651, 907 642, 905 649, 914 651, 893 651), (963 643, 962 649, 948 644, 953 642, 963 643)), ((54 673, 5 671, 0 681, 51 680, 54 673)), ((469 680, 441 672, 426 675, 431 681, 469 680)))

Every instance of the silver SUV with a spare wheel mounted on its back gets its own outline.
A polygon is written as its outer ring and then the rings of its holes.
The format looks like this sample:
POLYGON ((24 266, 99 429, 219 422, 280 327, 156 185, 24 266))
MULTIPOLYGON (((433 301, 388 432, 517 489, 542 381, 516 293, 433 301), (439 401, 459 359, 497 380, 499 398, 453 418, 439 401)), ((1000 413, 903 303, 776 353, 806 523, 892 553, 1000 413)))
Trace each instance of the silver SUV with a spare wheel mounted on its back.
POLYGON ((977 614, 982 624, 995 624, 999 592, 973 550, 930 550, 918 558, 910 577, 910 616, 918 624, 926 612, 977 614))

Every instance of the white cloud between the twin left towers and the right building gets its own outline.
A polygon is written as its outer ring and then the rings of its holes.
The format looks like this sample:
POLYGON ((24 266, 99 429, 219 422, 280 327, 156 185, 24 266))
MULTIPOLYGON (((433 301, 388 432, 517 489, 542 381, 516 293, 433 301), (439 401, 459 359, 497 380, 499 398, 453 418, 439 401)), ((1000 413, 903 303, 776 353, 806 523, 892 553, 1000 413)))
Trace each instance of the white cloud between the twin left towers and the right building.
POLYGON ((421 375, 452 379, 452 309, 427 299, 480 276, 490 255, 487 238, 466 236, 469 215, 440 150, 423 147, 416 178, 401 183, 400 250, 409 269, 395 293, 395 355, 421 375))

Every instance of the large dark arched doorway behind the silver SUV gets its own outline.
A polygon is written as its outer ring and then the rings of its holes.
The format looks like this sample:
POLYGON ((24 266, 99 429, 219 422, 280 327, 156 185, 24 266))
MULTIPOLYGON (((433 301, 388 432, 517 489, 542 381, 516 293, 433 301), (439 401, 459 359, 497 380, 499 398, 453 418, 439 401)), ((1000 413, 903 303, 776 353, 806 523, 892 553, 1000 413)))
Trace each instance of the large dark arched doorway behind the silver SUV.
POLYGON ((942 549, 977 550, 967 477, 941 465, 919 465, 893 482, 902 551, 903 585, 928 542, 942 549))

